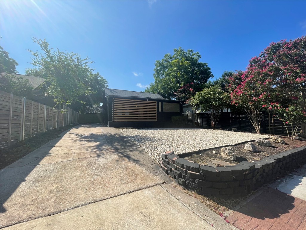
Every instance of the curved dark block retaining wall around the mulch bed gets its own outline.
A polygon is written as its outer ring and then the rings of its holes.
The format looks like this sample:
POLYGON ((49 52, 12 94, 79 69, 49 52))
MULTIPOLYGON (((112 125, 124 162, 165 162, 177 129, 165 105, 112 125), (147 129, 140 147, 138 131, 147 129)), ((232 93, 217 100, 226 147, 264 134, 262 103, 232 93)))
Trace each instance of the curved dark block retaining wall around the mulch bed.
POLYGON ((174 154, 162 154, 160 166, 180 185, 199 194, 222 199, 243 197, 276 177, 293 171, 306 162, 306 146, 268 156, 252 163, 211 167, 193 163, 174 154))

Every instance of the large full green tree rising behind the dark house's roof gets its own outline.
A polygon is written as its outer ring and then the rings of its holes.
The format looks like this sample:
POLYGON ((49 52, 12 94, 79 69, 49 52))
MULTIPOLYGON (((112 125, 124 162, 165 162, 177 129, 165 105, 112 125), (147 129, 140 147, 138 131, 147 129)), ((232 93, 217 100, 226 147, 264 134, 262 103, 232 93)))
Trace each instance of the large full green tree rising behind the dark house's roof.
POLYGON ((211 68, 200 62, 201 55, 193 50, 185 51, 181 47, 174 49, 174 54, 166 54, 162 60, 155 62, 154 83, 145 92, 158 93, 164 98, 176 98, 179 89, 193 83, 193 90, 199 92, 211 77, 211 68))

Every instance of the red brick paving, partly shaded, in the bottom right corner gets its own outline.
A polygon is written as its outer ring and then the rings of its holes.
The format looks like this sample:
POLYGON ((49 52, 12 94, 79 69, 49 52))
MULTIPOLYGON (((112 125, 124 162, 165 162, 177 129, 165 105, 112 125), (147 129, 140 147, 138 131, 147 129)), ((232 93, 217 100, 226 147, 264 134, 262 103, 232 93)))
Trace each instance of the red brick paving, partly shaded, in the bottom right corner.
POLYGON ((226 220, 242 230, 306 230, 306 201, 269 188, 226 220))

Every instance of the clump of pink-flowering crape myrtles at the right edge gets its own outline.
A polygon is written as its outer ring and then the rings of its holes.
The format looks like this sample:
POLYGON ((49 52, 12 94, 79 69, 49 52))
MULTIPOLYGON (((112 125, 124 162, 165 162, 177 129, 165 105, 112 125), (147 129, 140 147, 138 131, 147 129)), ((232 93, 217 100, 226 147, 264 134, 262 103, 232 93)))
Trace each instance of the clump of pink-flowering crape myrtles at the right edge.
POLYGON ((297 125, 305 122, 305 52, 304 36, 271 43, 259 57, 250 60, 241 82, 230 78, 232 103, 247 113, 257 133, 262 109, 273 111, 284 124, 291 124, 292 139, 297 125))

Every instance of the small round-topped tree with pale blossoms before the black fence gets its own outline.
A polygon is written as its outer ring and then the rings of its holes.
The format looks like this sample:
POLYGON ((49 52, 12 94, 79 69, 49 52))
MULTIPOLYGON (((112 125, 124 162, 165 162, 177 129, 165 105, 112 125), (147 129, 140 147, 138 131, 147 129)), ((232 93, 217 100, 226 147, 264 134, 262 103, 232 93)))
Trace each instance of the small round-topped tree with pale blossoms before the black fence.
POLYGON ((201 111, 207 112, 211 118, 211 127, 215 128, 222 110, 228 108, 230 97, 217 86, 212 86, 197 92, 189 102, 193 106, 193 109, 201 109, 201 111))

